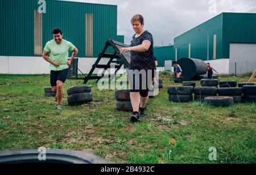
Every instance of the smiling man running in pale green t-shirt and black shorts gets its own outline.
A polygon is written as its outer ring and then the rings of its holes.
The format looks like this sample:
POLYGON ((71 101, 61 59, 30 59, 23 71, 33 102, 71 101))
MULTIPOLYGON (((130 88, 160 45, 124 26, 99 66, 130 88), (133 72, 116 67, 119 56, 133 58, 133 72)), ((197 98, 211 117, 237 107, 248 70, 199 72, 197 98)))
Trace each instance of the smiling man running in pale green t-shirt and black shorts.
POLYGON ((62 39, 63 33, 60 28, 54 28, 52 35, 53 40, 48 41, 44 47, 43 58, 50 63, 51 87, 52 91, 57 93, 57 109, 61 110, 63 84, 68 76, 68 67, 76 57, 78 50, 71 42, 62 39), (68 60, 69 51, 73 54, 68 60))

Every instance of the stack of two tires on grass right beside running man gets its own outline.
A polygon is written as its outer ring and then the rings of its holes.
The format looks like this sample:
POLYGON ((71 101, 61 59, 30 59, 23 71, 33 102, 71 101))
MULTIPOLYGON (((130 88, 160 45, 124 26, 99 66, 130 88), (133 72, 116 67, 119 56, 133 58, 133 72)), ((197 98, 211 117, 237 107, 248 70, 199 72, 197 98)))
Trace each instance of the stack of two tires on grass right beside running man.
POLYGON ((91 87, 89 86, 71 87, 68 88, 67 93, 69 105, 81 105, 93 100, 91 87))

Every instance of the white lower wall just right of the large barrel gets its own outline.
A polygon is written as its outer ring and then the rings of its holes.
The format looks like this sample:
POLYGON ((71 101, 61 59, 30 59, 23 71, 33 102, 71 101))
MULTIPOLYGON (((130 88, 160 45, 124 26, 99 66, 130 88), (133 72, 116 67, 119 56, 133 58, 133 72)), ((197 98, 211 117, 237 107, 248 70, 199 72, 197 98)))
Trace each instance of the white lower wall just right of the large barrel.
MULTIPOLYGON (((205 61, 207 63, 207 61, 205 61)), ((209 60, 210 66, 218 71, 218 74, 229 74, 229 59, 214 59, 209 60)), ((215 72, 213 71, 213 74, 215 72)))

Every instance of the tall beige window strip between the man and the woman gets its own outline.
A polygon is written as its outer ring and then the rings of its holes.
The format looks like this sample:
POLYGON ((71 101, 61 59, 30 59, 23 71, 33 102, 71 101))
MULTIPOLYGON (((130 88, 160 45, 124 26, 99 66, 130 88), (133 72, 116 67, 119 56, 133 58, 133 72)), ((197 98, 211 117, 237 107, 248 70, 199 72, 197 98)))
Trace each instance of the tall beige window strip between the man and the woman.
POLYGON ((93 57, 93 14, 85 14, 85 57, 93 57))

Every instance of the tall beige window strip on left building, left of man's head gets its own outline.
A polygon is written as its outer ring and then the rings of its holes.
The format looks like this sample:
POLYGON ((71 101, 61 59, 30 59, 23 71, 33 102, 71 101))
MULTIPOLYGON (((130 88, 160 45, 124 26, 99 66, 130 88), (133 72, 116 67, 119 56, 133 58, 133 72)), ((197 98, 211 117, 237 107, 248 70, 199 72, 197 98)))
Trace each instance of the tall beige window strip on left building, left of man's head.
POLYGON ((43 52, 43 13, 34 10, 34 54, 42 55, 43 52))

